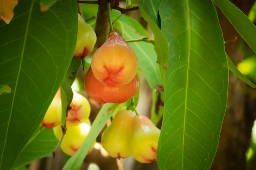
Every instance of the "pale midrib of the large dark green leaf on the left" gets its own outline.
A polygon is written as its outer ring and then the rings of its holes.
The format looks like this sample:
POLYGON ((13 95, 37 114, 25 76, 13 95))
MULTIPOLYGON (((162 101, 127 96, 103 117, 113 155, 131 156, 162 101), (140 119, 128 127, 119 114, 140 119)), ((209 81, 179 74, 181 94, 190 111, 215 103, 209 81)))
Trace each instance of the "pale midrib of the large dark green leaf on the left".
POLYGON ((11 120, 11 117, 12 117, 12 109, 13 109, 13 105, 14 105, 15 94, 16 94, 16 90, 17 90, 17 84, 18 84, 19 77, 20 77, 20 70, 21 70, 22 60, 23 60, 23 56, 24 56, 24 51, 25 51, 25 46, 26 46, 26 38, 27 38, 27 35, 28 35, 29 23, 30 23, 30 18, 31 18, 33 5, 34 5, 34 0, 32 0, 32 2, 31 2, 31 7, 30 7, 30 10, 29 10, 29 18, 28 18, 28 23, 27 23, 27 27, 26 27, 25 37, 24 37, 24 44, 23 44, 23 48, 22 48, 22 52, 21 52, 21 56, 20 56, 20 66, 19 66, 19 70, 18 70, 16 85, 15 85, 13 99, 12 99, 12 106, 11 106, 10 116, 9 116, 8 125, 7 125, 7 129, 6 129, 6 137, 5 137, 4 144, 3 144, 3 151, 2 151, 2 155, 1 155, 1 161, 0 161, 0 169, 2 167, 3 153, 4 153, 4 149, 5 149, 5 145, 6 145, 6 139, 7 139, 7 136, 8 136, 10 120, 11 120))

